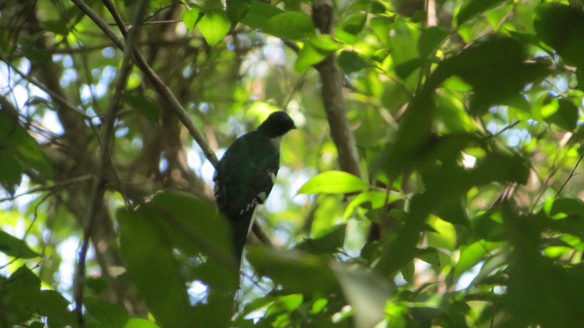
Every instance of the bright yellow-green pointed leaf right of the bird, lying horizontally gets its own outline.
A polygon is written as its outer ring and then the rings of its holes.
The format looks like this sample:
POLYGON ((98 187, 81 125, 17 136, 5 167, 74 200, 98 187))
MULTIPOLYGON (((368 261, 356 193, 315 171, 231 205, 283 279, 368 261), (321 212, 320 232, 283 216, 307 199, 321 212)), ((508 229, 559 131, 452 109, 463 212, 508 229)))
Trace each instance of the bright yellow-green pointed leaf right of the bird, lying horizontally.
POLYGON ((369 183, 350 173, 327 171, 308 180, 300 187, 298 194, 347 194, 368 188, 369 183))

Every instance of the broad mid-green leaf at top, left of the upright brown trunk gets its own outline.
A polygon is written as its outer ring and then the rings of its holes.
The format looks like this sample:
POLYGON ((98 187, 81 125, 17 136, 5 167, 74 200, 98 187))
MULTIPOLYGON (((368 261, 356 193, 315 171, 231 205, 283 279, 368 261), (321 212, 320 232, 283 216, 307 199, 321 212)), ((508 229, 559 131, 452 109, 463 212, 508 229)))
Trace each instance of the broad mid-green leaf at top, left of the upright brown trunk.
POLYGON ((283 12, 267 19, 262 31, 281 39, 298 40, 315 36, 314 22, 303 12, 283 12))

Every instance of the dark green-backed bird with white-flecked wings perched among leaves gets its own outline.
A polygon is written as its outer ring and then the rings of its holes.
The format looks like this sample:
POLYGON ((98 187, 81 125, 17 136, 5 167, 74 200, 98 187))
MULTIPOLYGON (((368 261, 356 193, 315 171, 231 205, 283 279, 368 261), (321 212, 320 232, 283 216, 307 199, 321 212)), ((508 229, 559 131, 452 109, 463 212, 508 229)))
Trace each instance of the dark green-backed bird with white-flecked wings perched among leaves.
POLYGON ((280 168, 280 141, 296 128, 283 111, 275 111, 256 130, 237 138, 215 170, 215 201, 231 224, 235 259, 241 264, 253 212, 269 196, 280 168))

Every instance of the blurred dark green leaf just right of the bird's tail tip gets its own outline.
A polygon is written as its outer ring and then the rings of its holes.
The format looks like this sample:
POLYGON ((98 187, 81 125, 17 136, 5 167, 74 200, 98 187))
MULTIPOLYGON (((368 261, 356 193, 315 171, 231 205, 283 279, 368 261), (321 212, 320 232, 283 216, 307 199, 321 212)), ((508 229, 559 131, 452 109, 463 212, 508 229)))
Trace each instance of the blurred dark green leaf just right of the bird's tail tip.
POLYGON ((331 268, 316 255, 256 246, 249 247, 246 257, 258 273, 282 285, 286 292, 331 292, 336 286, 331 268))

